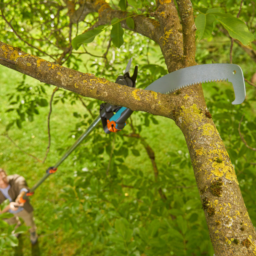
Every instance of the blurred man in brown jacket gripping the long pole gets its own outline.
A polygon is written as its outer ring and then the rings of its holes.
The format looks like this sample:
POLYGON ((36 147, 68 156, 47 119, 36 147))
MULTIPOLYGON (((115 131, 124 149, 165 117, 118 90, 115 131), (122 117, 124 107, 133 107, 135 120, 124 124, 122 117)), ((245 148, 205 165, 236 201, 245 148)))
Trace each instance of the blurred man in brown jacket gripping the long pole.
POLYGON ((16 227, 20 225, 19 217, 22 218, 25 224, 30 227, 31 243, 36 244, 37 234, 33 218, 33 207, 29 204, 28 200, 25 203, 19 203, 19 198, 23 197, 26 192, 28 192, 28 186, 22 176, 18 174, 7 176, 6 172, 0 168, 0 204, 2 204, 5 199, 10 200, 10 204, 2 211, 0 210, 0 213, 13 213, 14 217, 5 219, 5 221, 10 225, 17 224, 16 227))

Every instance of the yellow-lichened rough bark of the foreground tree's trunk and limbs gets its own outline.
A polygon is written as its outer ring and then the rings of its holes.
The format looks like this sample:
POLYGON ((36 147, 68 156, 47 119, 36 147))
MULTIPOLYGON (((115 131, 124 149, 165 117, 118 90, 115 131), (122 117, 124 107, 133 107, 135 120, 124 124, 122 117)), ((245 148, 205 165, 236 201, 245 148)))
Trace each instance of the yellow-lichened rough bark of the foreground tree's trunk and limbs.
MULTIPOLYGON (((169 72, 196 65, 196 28, 191 2, 176 0, 176 4, 178 8, 171 0, 158 0, 156 19, 133 17, 134 31, 160 45, 169 72)), ((99 24, 113 17, 126 17, 125 12, 112 10, 102 0, 86 1, 83 8, 81 13, 86 10, 98 12, 99 24)), ((123 23, 123 26, 126 25, 123 23)), ((0 58, 4 66, 41 82, 173 119, 187 142, 215 255, 256 255, 256 233, 236 173, 206 107, 201 85, 169 95, 134 89, 56 65, 4 43, 0 43, 0 58)))

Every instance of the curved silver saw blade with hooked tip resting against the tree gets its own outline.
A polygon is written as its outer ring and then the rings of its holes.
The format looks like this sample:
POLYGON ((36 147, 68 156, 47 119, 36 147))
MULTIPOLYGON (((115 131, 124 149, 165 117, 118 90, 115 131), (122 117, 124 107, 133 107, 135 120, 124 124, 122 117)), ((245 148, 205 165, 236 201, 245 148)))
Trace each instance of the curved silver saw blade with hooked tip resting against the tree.
POLYGON ((235 100, 232 104, 241 104, 245 99, 245 85, 242 69, 236 64, 202 64, 182 68, 160 77, 145 90, 170 93, 183 87, 208 82, 228 81, 233 84, 235 100))

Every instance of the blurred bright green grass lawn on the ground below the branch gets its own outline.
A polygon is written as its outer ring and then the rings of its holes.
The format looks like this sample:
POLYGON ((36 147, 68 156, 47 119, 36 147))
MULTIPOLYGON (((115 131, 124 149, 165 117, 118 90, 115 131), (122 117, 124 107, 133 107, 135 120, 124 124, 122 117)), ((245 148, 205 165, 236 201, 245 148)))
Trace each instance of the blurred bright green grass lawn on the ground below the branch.
MULTIPOLYGON (((40 108, 40 115, 35 115, 33 122, 25 122, 21 129, 18 129, 16 125, 10 129, 8 136, 16 144, 15 146, 11 140, 3 136, 5 126, 17 118, 15 112, 6 112, 10 108, 9 96, 6 95, 12 95, 15 92, 15 88, 22 81, 23 75, 3 66, 0 66, 0 73, 0 134, 2 134, 0 136, 0 166, 10 174, 18 173, 24 176, 31 187, 44 176, 45 170, 49 166, 54 165, 62 156, 63 150, 60 151, 59 149, 67 149, 75 142, 75 139, 70 136, 71 131, 76 129, 77 120, 73 116, 73 112, 84 114, 88 113, 88 111, 80 102, 72 105, 69 102, 53 105, 51 148, 46 161, 42 163, 38 160, 44 158, 48 146, 47 117, 49 106, 40 108), (28 154, 35 156, 38 160, 28 154)), ((32 87, 40 84, 40 82, 30 77, 26 78, 26 83, 32 87)), ((44 87, 49 101, 54 87, 44 87)), ((136 113, 132 116, 135 125, 140 123, 140 115, 141 113, 136 113)), ((186 152, 186 142, 175 123, 161 116, 156 116, 156 120, 159 123, 158 125, 150 124, 148 127, 143 126, 141 132, 141 135, 155 151, 156 162, 170 161, 168 159, 170 158, 168 156, 169 151, 178 152, 178 150, 183 150, 186 152)), ((101 129, 101 127, 97 129, 101 129)), ((117 134, 117 136, 119 135, 117 134)), ((148 170, 153 175, 151 171, 152 166, 145 149, 140 144, 138 144, 137 149, 140 151, 140 157, 135 159, 137 168, 145 172, 148 170)), ((84 167, 84 165, 80 164, 74 166, 73 158, 75 156, 76 152, 73 152, 60 165, 59 170, 50 176, 36 190, 35 195, 31 197, 31 203, 35 208, 34 214, 39 235, 38 247, 31 248, 28 233, 26 233, 20 236, 20 246, 16 248, 17 250, 4 252, 2 255, 76 255, 76 248, 79 248, 79 239, 70 240, 69 235, 64 231, 58 230, 55 232, 50 229, 50 223, 56 218, 54 209, 57 205, 61 205, 61 200, 59 200, 58 196, 61 188, 67 185, 68 177, 74 176, 76 169, 84 167)), ((125 163, 128 166, 129 164, 133 166, 134 156, 127 156, 125 163)))

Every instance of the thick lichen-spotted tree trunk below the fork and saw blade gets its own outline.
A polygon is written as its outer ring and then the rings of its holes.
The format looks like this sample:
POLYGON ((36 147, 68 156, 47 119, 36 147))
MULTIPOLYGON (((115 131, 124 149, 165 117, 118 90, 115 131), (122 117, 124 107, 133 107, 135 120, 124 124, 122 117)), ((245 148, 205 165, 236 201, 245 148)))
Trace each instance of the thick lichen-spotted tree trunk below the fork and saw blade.
POLYGON ((255 255, 255 230, 202 88, 188 87, 180 95, 174 119, 187 142, 215 255, 255 255))

